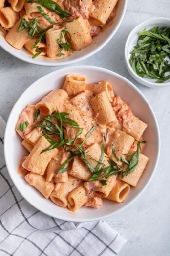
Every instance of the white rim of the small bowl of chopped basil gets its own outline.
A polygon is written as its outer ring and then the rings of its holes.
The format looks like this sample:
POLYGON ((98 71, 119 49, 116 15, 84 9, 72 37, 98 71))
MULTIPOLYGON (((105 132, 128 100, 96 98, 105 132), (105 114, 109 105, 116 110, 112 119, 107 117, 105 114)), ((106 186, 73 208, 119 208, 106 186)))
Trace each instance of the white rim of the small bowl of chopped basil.
POLYGON ((132 69, 129 60, 128 60, 128 45, 130 43, 131 38, 133 37, 133 33, 135 30, 140 30, 142 26, 149 26, 149 25, 154 25, 154 23, 162 23, 163 21, 168 21, 170 23, 170 18, 166 18, 166 17, 156 17, 156 18, 151 18, 149 20, 146 20, 140 24, 138 24, 137 26, 135 26, 131 32, 129 33, 129 35, 127 36, 127 40, 125 43, 125 50, 124 50, 124 56, 125 56, 125 63, 126 63, 126 67, 128 72, 130 73, 130 75, 139 83, 148 86, 148 87, 163 87, 163 86, 170 86, 170 81, 166 82, 166 83, 155 83, 155 82, 150 82, 148 80, 146 80, 145 78, 142 78, 140 76, 138 76, 134 70, 132 69))

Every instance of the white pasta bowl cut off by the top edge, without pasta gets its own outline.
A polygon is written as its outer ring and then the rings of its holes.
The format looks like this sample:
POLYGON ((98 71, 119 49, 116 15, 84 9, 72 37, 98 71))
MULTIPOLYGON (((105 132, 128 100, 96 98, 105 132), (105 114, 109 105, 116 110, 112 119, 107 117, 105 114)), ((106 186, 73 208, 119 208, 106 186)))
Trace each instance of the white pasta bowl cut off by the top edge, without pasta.
POLYGON ((27 50, 24 48, 22 50, 17 50, 11 45, 9 45, 4 38, 3 32, 0 31, 0 46, 7 52, 9 52, 11 55, 26 61, 28 63, 42 65, 42 66, 63 66, 75 63, 77 61, 84 60, 96 52, 100 51, 106 44, 111 40, 111 38, 114 36, 116 31, 118 30, 119 26, 121 25, 121 22, 123 20, 125 11, 127 7, 127 0, 119 0, 117 5, 117 11, 116 16, 114 18, 114 21, 104 29, 103 32, 101 32, 98 36, 93 38, 93 42, 90 46, 82 49, 81 51, 74 51, 70 56, 65 57, 61 60, 50 60, 50 59, 43 59, 41 57, 37 57, 35 59, 32 59, 32 55, 29 54, 27 50))

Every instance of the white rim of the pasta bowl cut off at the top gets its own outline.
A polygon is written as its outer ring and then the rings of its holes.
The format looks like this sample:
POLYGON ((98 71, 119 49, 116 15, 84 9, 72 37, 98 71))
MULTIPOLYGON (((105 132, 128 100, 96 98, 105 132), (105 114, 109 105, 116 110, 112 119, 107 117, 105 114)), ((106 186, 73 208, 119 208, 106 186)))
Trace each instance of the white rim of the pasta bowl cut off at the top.
MULTIPOLYGON (((116 34, 117 30, 119 29, 119 27, 123 21, 123 18, 125 16, 126 9, 127 9, 127 0, 124 0, 123 10, 120 15, 119 22, 118 22, 117 26, 115 27, 115 29, 110 33, 110 35, 106 38, 106 40, 99 47, 95 48, 93 51, 90 51, 87 54, 84 54, 83 56, 77 57, 76 59, 66 60, 64 62, 60 62, 60 60, 58 60, 56 62, 51 62, 51 63, 47 62, 46 60, 44 60, 42 62, 38 62, 37 60, 32 59, 31 57, 27 58, 22 55, 20 56, 17 52, 8 51, 7 47, 6 47, 6 44, 8 44, 7 42, 5 42, 5 44, 0 44, 0 47, 3 50, 7 51, 12 56, 14 56, 22 61, 25 61, 25 62, 31 63, 31 64, 35 64, 35 65, 39 65, 39 66, 58 67, 58 66, 73 64, 75 62, 82 61, 82 60, 87 59, 88 57, 91 57, 92 55, 94 55, 95 53, 97 53, 98 51, 100 51, 102 48, 104 48, 106 46, 106 44, 111 40, 111 38, 116 34)), ((12 46, 10 46, 10 47, 12 47, 12 46)), ((66 57, 66 59, 67 59, 67 57, 66 57)))

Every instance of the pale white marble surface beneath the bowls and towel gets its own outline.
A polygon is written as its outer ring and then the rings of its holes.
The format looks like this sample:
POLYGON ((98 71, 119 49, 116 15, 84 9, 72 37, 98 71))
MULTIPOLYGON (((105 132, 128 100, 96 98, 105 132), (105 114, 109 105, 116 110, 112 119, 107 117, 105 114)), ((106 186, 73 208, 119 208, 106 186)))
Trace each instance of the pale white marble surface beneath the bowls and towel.
MULTIPOLYGON (((119 256, 170 255, 170 87, 140 85, 128 74, 124 62, 128 33, 154 17, 170 17, 170 0, 128 0, 125 18, 114 38, 102 51, 77 63, 105 67, 132 81, 149 100, 160 127, 162 147, 155 176, 134 204, 107 219, 128 240, 119 256)), ((21 93, 56 69, 27 64, 0 49, 0 115, 5 121, 21 93)))

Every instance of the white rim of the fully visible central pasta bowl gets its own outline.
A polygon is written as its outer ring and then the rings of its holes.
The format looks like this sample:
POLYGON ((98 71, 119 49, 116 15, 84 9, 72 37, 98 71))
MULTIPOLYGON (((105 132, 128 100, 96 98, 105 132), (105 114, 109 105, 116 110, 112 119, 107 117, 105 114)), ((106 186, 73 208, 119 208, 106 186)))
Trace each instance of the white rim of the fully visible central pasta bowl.
MULTIPOLYGON (((7 171, 9 173, 9 176, 10 178, 12 179, 14 185, 16 186, 17 190, 21 193, 22 195, 22 190, 20 189, 20 186, 18 186, 17 182, 15 182, 15 179, 13 179, 12 175, 11 175, 11 172, 9 171, 8 169, 8 162, 9 162, 9 158, 7 157, 8 155, 8 147, 7 147, 7 131, 10 129, 9 127, 9 123, 10 123, 10 118, 11 116, 13 116, 15 113, 14 110, 15 110, 15 106, 17 105, 18 101, 20 100, 21 97, 23 97, 23 95, 27 93, 27 90, 30 89, 30 87, 34 88, 36 83, 41 83, 41 81, 44 79, 44 77, 50 77, 52 74, 54 73, 61 73, 62 71, 65 71, 65 70, 68 70, 69 68, 71 68, 72 70, 76 70, 77 68, 82 68, 82 72, 83 72, 83 69, 93 69, 94 71, 97 71, 97 72, 105 72, 106 74, 110 74, 112 76, 117 76, 118 78, 124 80, 125 82, 127 82, 129 84, 130 87, 132 87, 139 95, 140 97, 142 97, 142 99, 144 100, 144 102, 148 105, 149 107, 149 110, 153 116, 153 119, 154 119, 154 122, 155 122, 155 125, 156 125, 156 132, 157 132, 157 155, 156 155, 156 161, 154 163, 154 166, 153 166, 153 170, 152 170, 152 173, 151 173, 151 176, 150 178, 148 179, 148 181, 145 183, 145 186, 143 187, 143 189, 138 193, 138 195, 136 195, 129 203, 127 203, 127 205, 123 205, 122 208, 119 208, 117 210, 114 210, 113 212, 110 212, 110 213, 106 213, 106 214, 103 214, 102 216, 98 216, 98 217, 92 217, 90 220, 89 219, 79 219, 79 218, 75 218, 74 222, 90 222, 90 221, 97 221, 97 220, 101 220, 101 219, 104 219, 104 218, 107 218, 107 217, 110 217, 116 213, 118 213, 119 211, 121 210, 124 210, 125 208, 127 208, 127 206, 131 205, 132 203, 134 203, 138 198, 139 196, 145 191, 145 189, 148 187, 151 179, 153 178, 153 175, 156 171, 156 168, 157 168, 157 165, 158 165, 158 162, 159 162, 159 156, 160 156, 160 143, 161 143, 161 140, 160 140, 160 131, 159 131, 159 126, 158 126, 158 123, 157 123, 157 119, 156 119, 156 116, 148 102, 148 100, 146 99, 146 97, 142 94, 142 92, 132 83, 130 82, 127 78, 121 76, 120 74, 116 73, 116 72, 113 72, 111 70, 108 70, 108 69, 105 69, 105 68, 101 68, 101 67, 96 67, 96 66, 88 66, 88 65, 81 65, 81 66, 71 66, 71 67, 65 67, 65 68, 62 68, 62 69, 58 69, 58 70, 55 70, 53 72, 50 72, 48 73, 47 75, 37 79, 34 83, 32 83, 22 94, 21 96, 18 98, 17 102, 14 104, 11 112, 10 112, 10 115, 8 117, 8 121, 7 121, 7 124, 6 124, 6 128, 5 128, 5 134, 4 134, 4 156, 5 156, 5 162, 6 162, 6 167, 7 167, 7 171)), ((72 71, 71 70, 71 71, 72 71)), ((56 76, 57 77, 57 76, 56 76)), ((17 173, 16 173, 17 175, 17 173)), ((54 217, 54 218, 58 218, 58 219, 61 219, 61 220, 64 220, 64 221, 73 221, 73 219, 69 218, 69 216, 66 216, 66 217, 63 217, 63 216, 60 216, 60 217, 56 217, 55 214, 53 214, 53 212, 51 212, 50 214, 46 212, 45 209, 40 209, 39 206, 36 205, 36 203, 33 203, 31 202, 31 200, 25 198, 23 195, 22 197, 30 204, 32 205, 33 207, 37 208, 39 211, 43 212, 44 214, 48 215, 48 216, 51 216, 51 217, 54 217)))

